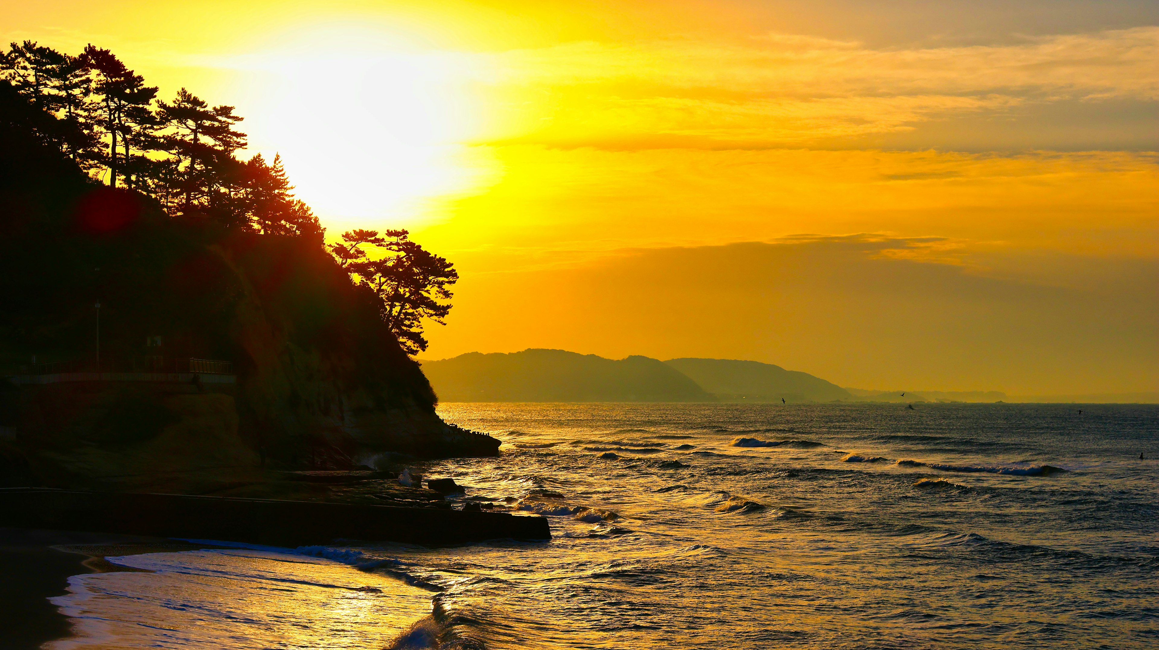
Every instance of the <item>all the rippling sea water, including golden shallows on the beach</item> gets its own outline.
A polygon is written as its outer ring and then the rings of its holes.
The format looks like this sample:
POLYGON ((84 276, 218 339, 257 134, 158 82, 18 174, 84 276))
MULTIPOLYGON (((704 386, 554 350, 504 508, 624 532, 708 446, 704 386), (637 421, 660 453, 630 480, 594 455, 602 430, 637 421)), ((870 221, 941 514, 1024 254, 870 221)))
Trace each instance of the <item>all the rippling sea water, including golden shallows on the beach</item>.
POLYGON ((110 558, 53 647, 1159 647, 1159 407, 439 412, 503 454, 418 469, 549 542, 110 558))

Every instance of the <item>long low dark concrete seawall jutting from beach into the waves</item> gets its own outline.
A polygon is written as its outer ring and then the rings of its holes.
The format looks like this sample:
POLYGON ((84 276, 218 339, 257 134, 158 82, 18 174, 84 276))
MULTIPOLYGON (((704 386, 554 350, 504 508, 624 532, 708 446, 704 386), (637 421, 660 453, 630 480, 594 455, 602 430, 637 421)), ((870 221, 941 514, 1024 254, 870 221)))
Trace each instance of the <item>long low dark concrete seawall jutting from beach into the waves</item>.
POLYGON ((297 547, 336 539, 428 546, 551 539, 547 519, 298 501, 0 489, 0 526, 297 547))

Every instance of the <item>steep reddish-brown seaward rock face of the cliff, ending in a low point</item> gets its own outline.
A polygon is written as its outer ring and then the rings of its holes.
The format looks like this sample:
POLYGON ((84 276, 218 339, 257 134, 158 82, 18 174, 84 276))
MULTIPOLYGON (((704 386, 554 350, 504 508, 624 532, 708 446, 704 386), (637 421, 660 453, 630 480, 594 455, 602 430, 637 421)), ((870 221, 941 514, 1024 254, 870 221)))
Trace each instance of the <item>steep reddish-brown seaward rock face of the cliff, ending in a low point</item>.
POLYGON ((497 452, 498 440, 435 414, 418 365, 325 254, 289 240, 252 243, 210 251, 234 285, 243 434, 282 462, 313 468, 497 452))

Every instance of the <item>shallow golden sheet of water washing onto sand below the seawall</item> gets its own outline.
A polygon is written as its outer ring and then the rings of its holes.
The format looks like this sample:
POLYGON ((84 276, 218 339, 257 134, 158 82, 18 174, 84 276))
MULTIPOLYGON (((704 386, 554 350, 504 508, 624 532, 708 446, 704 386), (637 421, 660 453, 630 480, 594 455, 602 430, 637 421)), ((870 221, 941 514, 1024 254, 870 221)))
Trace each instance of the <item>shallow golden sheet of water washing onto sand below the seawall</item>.
POLYGON ((78 637, 50 650, 382 648, 430 614, 431 592, 381 574, 261 550, 111 558, 155 572, 75 576, 53 599, 78 637))

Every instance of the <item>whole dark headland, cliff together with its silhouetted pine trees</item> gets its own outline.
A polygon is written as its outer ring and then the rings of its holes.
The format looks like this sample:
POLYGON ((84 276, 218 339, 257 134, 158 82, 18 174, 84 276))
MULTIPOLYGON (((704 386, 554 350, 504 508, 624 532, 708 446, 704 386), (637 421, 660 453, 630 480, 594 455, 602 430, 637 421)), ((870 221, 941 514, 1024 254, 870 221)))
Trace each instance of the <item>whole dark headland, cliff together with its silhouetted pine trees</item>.
POLYGON ((203 491, 261 466, 495 453, 438 418, 410 358, 447 315, 450 262, 401 229, 326 246, 280 159, 239 158, 232 107, 159 101, 107 50, 13 44, 0 76, 6 481, 203 491), (28 379, 190 359, 231 381, 28 379))

